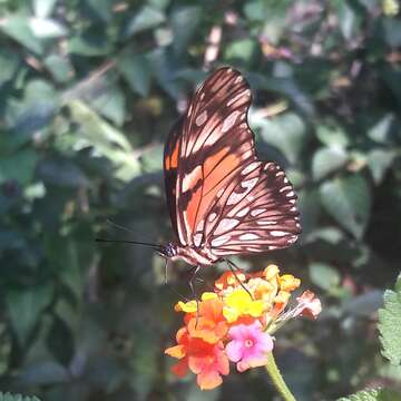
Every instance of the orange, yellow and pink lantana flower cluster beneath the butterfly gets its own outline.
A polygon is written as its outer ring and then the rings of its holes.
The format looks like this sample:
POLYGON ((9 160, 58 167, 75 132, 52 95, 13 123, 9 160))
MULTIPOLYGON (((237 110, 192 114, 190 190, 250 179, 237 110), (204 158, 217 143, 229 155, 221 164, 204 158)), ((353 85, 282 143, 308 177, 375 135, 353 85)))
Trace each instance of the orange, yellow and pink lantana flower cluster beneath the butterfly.
POLYGON ((177 332, 177 345, 165 351, 178 359, 173 372, 183 376, 190 370, 199 388, 209 390, 228 374, 229 361, 238 372, 265 365, 277 329, 290 319, 315 319, 321 312, 319 299, 310 291, 287 307, 300 284, 299 278, 280 275, 276 265, 268 265, 253 274, 226 272, 200 300, 178 302, 175 310, 184 312, 184 326, 177 332))

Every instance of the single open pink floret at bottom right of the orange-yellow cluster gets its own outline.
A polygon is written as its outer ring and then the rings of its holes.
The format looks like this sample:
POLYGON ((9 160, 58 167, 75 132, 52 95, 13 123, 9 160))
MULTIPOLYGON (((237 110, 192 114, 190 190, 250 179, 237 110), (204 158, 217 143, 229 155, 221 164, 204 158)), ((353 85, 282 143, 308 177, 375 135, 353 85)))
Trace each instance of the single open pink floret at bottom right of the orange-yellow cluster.
POLYGON ((227 344, 226 354, 232 362, 237 363, 238 372, 267 363, 267 353, 273 350, 273 339, 262 332, 260 321, 232 326, 228 335, 233 341, 227 344))

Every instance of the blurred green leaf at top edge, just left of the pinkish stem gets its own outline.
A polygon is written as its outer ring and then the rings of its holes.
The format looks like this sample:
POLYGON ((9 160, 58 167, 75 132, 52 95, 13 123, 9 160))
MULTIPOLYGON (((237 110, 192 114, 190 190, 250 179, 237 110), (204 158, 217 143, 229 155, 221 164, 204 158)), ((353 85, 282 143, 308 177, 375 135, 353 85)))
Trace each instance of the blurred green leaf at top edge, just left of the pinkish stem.
POLYGON ((202 18, 202 8, 187 6, 175 9, 170 17, 174 42, 173 48, 177 56, 187 50, 187 46, 196 32, 202 18))

